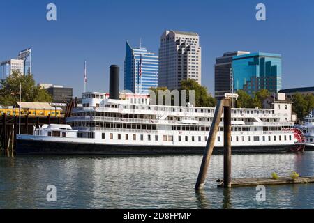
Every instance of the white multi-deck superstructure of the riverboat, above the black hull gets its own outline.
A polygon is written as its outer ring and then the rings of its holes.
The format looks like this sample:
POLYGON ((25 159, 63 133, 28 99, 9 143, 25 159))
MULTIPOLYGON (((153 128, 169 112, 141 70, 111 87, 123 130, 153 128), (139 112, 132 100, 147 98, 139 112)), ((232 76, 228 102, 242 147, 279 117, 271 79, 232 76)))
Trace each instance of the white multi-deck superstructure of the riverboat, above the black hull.
MULTIPOLYGON (((66 123, 79 139, 95 143, 154 146, 205 146, 214 117, 211 107, 149 105, 147 95, 84 93, 84 107, 73 109, 66 123), (140 99, 140 100, 139 100, 140 99)), ((292 145, 291 114, 281 109, 232 109, 232 146, 292 145), (290 116, 290 117, 289 117, 290 116)), ((215 146, 223 146, 223 122, 215 146)))

